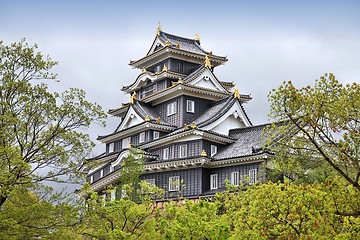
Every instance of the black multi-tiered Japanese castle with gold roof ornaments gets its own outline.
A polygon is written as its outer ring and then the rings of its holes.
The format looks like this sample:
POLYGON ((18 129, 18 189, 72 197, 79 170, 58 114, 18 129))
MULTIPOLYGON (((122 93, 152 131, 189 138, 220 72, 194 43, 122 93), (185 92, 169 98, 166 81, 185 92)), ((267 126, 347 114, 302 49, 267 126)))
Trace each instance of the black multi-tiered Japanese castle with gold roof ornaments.
POLYGON ((270 157, 261 148, 265 126, 253 126, 245 112, 251 97, 216 77, 215 68, 227 60, 205 51, 198 36, 158 28, 148 53, 129 64, 141 69, 122 88, 129 103, 108 112, 120 123, 98 137, 105 152, 82 167, 91 189, 102 195, 118 183, 122 160, 134 145, 144 150, 142 179, 163 188, 165 199, 210 197, 227 183, 263 181, 262 163, 270 157))

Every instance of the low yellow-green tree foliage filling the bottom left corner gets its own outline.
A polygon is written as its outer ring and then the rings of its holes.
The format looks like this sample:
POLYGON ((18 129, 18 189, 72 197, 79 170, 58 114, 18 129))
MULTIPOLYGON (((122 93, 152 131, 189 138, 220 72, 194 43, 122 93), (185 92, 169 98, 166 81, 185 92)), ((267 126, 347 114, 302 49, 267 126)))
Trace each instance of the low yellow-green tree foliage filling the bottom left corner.
POLYGON ((58 200, 59 196, 52 194, 51 189, 14 189, 0 211, 0 239, 64 239, 70 236, 68 230, 81 221, 78 212, 81 208, 70 199, 58 200))

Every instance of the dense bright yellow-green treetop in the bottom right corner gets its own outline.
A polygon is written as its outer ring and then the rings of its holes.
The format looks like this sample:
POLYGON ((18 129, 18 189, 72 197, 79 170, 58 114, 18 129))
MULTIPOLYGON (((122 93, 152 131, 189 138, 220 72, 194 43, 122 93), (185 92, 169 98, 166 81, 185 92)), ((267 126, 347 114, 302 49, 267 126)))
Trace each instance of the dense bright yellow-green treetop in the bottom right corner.
POLYGON ((264 183, 220 193, 219 209, 232 228, 230 239, 358 239, 359 218, 340 216, 360 205, 359 192, 341 178, 322 183, 264 183))

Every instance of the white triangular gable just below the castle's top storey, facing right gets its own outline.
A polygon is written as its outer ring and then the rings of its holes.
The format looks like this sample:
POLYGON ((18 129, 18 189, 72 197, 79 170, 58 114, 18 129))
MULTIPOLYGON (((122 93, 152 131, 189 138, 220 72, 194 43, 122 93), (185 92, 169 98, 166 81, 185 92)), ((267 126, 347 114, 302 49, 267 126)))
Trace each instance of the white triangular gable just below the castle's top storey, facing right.
POLYGON ((188 82, 188 84, 196 86, 212 89, 220 92, 228 92, 226 88, 224 88, 219 80, 215 77, 214 73, 210 71, 210 69, 206 68, 199 76, 195 79, 188 82))

